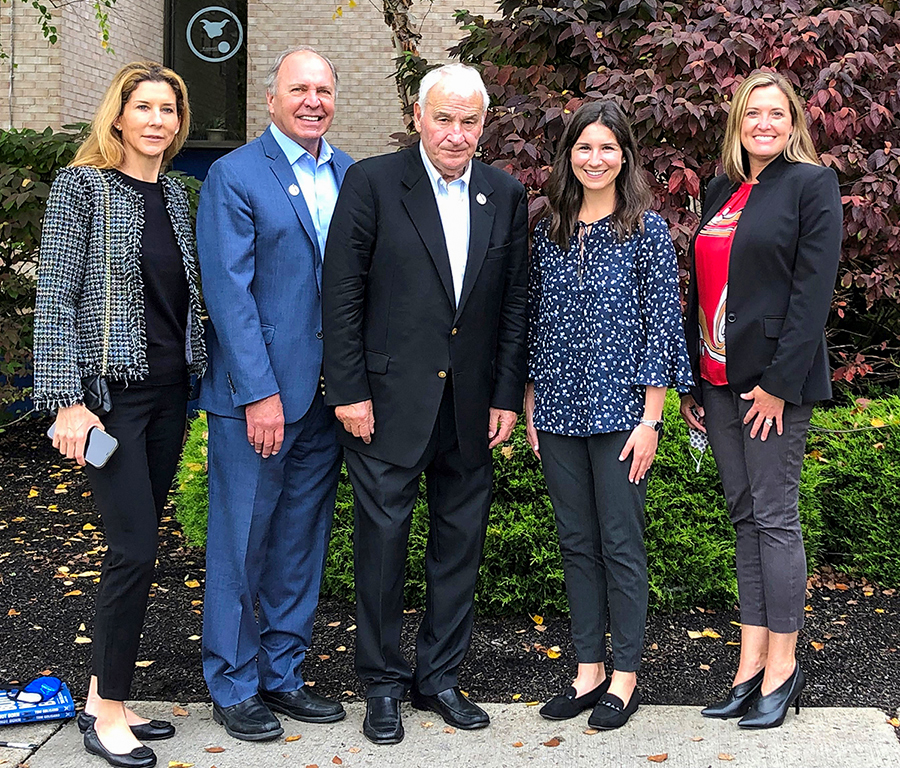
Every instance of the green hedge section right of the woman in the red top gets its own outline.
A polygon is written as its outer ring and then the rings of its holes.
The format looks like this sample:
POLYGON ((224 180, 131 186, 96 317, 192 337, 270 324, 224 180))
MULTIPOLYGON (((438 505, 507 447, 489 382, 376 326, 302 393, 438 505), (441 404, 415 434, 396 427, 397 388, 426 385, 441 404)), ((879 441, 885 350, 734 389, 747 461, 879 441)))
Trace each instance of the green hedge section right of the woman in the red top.
POLYGON ((851 574, 900 584, 900 397, 820 411, 813 426, 825 555, 851 574))

